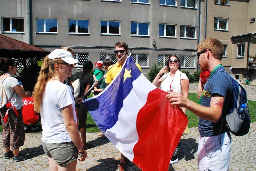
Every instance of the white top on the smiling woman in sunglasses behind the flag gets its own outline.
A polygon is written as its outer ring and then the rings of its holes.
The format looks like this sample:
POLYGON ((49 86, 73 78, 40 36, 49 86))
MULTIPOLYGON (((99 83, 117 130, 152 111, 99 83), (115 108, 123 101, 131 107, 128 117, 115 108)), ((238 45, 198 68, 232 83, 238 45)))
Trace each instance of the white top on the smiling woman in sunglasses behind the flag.
POLYGON ((174 77, 171 77, 170 72, 167 74, 164 74, 163 77, 164 77, 164 80, 160 85, 161 90, 167 92, 167 90, 170 89, 170 84, 172 83, 173 92, 178 92, 182 94, 180 80, 184 80, 184 79, 188 80, 186 74, 180 72, 180 70, 177 70, 174 77))

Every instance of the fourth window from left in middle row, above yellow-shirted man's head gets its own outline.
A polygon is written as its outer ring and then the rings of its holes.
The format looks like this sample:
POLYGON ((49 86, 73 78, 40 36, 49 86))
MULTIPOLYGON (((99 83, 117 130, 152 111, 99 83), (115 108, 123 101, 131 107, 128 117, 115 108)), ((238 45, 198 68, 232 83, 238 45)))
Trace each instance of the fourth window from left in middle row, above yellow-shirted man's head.
POLYGON ((100 34, 120 34, 120 21, 100 21, 100 34))

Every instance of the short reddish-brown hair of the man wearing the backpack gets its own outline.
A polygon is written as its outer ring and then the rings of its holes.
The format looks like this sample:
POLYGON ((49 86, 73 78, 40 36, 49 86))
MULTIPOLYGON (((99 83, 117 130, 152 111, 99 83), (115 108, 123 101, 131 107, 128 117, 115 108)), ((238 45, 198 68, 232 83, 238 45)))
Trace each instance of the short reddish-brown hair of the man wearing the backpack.
POLYGON ((222 55, 224 52, 224 46, 221 43, 221 41, 214 39, 214 38, 207 38, 204 39, 199 43, 199 45, 196 47, 196 50, 200 49, 201 51, 208 49, 212 56, 215 59, 222 59, 222 55))

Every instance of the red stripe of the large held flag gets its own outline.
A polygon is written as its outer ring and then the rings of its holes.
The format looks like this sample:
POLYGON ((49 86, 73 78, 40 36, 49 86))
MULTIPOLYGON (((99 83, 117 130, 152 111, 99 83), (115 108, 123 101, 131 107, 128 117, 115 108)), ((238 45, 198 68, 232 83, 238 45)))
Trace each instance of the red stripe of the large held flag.
POLYGON ((143 171, 168 170, 188 123, 180 107, 171 105, 166 94, 158 88, 151 91, 137 116, 139 140, 134 146, 133 162, 143 171))

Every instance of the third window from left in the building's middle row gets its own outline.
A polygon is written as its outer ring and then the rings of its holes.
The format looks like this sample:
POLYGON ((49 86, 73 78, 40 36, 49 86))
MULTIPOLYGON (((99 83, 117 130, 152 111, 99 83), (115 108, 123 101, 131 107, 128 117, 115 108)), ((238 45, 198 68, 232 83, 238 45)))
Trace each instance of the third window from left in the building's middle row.
POLYGON ((69 20, 69 33, 89 33, 89 20, 69 20))

